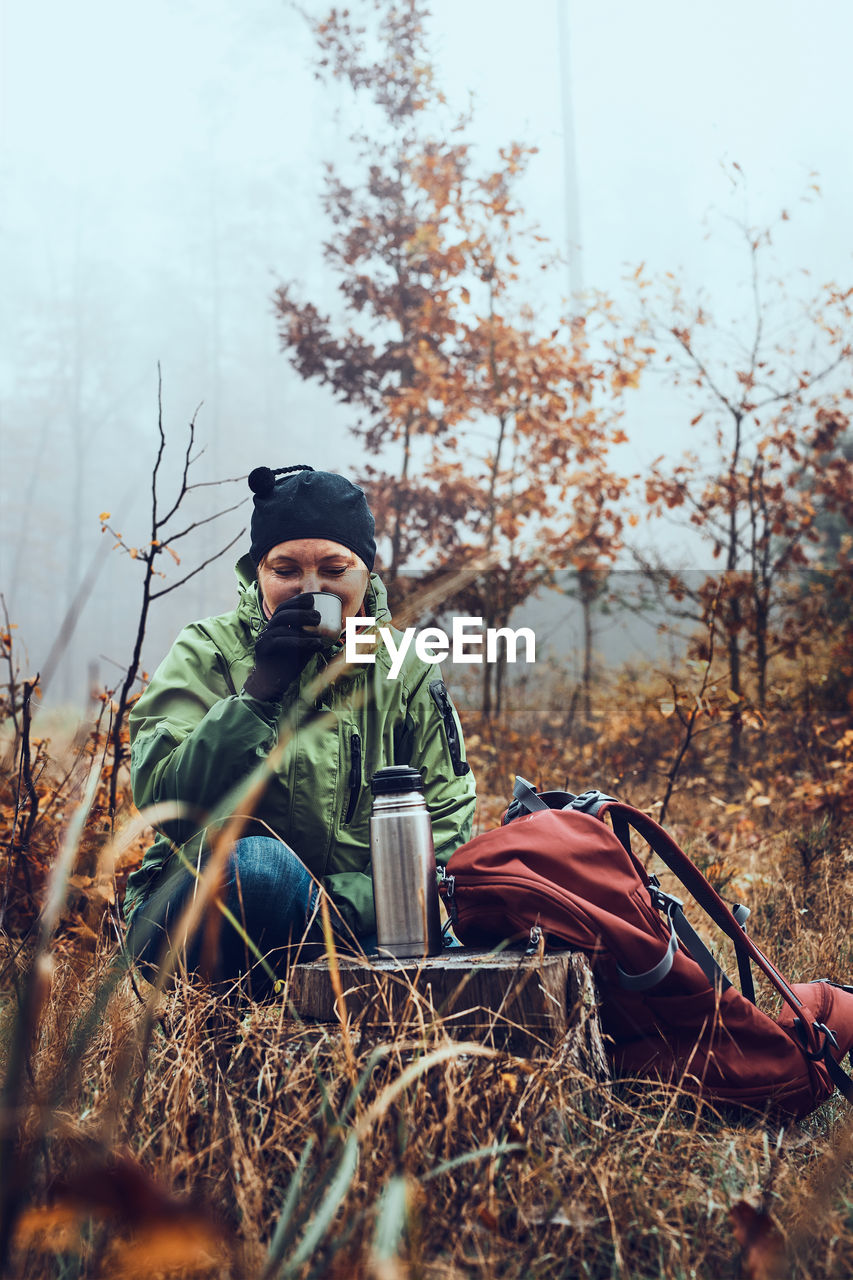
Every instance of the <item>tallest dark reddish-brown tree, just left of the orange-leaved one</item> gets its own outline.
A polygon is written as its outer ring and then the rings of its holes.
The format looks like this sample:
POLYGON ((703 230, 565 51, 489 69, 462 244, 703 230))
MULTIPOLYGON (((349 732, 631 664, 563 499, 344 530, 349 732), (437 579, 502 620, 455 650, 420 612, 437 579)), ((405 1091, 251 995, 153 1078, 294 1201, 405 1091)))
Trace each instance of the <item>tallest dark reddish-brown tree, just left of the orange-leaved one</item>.
POLYGON ((324 257, 343 315, 323 315, 293 284, 277 291, 275 310, 282 347, 297 372, 318 379, 356 410, 353 430, 365 454, 375 458, 391 447, 396 452, 393 463, 365 474, 379 525, 389 536, 387 570, 393 581, 424 541, 447 536, 456 512, 476 497, 473 488, 451 495, 441 481, 428 486, 415 460, 420 438, 452 440, 465 415, 461 388, 441 404, 430 401, 429 388, 438 369, 444 390, 451 385, 466 252, 442 239, 416 170, 459 182, 467 151, 461 143, 425 145, 420 136, 428 104, 442 109, 421 6, 377 3, 374 10, 378 32, 357 26, 346 10, 311 23, 318 76, 348 83, 370 122, 351 138, 356 179, 345 180, 332 165, 325 173, 323 207, 332 236, 324 257))

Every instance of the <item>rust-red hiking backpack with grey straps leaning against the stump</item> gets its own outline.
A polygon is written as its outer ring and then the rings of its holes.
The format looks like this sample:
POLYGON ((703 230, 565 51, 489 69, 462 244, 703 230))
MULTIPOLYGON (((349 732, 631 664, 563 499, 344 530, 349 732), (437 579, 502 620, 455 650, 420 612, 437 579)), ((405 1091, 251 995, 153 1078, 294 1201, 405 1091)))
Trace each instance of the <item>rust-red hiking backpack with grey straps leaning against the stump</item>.
POLYGON ((722 1102, 770 1105, 800 1117, 838 1087, 853 1044, 853 987, 788 983, 729 905, 658 823, 601 791, 538 795, 516 778, 496 831, 452 855, 441 892, 466 946, 543 933, 584 951, 620 1075, 657 1075, 722 1102), (602 819, 608 815, 612 829, 602 819), (742 993, 630 846, 639 832, 735 947, 742 993), (751 964, 783 1000, 779 1018, 756 1007, 751 964))

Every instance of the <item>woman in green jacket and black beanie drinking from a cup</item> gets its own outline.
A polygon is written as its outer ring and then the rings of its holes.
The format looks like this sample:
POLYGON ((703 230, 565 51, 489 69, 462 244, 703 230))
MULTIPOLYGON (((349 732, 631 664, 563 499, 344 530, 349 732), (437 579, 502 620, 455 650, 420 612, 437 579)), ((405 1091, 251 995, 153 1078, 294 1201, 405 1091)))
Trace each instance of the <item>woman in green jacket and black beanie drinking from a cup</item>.
MULTIPOLYGON (((304 936, 319 884, 343 934, 374 933, 368 819, 377 769, 421 771, 439 863, 471 831, 474 780, 434 666, 407 653, 389 678, 391 657, 378 643, 375 664, 350 667, 318 699, 306 696, 343 648, 306 630, 319 622, 307 593, 337 595, 342 627, 356 616, 389 622, 362 490, 311 467, 259 467, 248 484, 251 547, 237 564, 237 608, 184 627, 131 714, 134 803, 178 801, 197 815, 164 823, 128 881, 129 946, 146 960, 163 952, 204 865, 207 815, 270 755, 279 726, 288 726, 283 753, 229 854, 223 886, 227 910, 273 964, 304 936)), ((245 940, 227 922, 225 914, 216 931, 223 978, 248 963, 245 940)), ((202 932, 188 947, 190 968, 202 932)))

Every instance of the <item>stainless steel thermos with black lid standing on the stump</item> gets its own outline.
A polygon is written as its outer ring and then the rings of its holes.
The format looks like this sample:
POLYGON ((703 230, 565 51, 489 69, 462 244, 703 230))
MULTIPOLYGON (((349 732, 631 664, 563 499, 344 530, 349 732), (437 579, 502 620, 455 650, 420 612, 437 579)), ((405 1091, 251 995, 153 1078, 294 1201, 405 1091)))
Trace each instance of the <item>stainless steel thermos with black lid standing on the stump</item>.
POLYGON ((418 769, 392 764, 370 782, 370 863, 380 955, 442 950, 433 827, 418 769))

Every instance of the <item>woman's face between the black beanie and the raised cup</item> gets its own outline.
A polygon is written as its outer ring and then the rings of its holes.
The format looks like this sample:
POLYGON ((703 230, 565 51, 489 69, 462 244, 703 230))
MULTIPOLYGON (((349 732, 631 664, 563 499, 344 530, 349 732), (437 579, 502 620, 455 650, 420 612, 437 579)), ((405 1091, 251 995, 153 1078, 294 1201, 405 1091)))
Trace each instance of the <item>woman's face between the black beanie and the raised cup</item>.
POLYGON ((330 591, 341 598, 343 621, 361 608, 370 573, 365 562, 328 538, 292 538, 266 552, 257 566, 257 584, 268 617, 302 591, 330 591))

